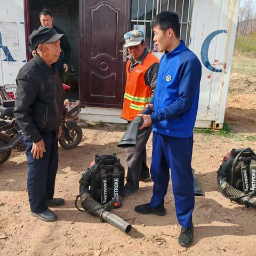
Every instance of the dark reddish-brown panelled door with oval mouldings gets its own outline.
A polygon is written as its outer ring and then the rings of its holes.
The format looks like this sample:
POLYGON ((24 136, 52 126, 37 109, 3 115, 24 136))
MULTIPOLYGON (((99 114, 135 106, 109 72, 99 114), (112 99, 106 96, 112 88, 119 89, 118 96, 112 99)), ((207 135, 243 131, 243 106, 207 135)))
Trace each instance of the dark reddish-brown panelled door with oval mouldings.
POLYGON ((80 81, 85 106, 121 108, 125 87, 124 34, 130 0, 80 0, 80 81))

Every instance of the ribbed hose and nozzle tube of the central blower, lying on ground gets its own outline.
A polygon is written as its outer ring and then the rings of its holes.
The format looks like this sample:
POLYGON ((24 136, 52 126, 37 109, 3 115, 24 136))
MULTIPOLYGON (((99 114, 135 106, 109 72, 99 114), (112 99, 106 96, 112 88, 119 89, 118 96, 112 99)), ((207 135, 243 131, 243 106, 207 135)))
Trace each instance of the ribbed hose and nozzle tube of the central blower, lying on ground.
POLYGON ((89 211, 93 216, 100 217, 101 220, 106 221, 113 225, 114 227, 120 229, 125 234, 128 234, 132 226, 124 221, 122 218, 118 217, 114 213, 111 213, 103 208, 103 206, 96 202, 90 195, 90 192, 85 190, 81 196, 81 205, 85 211, 89 211))

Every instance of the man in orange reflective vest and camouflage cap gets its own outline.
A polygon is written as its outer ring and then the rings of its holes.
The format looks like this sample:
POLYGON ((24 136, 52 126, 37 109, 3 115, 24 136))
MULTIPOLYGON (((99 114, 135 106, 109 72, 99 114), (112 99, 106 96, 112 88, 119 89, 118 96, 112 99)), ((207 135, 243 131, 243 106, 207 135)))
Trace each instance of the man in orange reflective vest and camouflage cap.
MULTIPOLYGON (((141 30, 132 30, 124 35, 129 52, 126 63, 126 86, 121 117, 131 123, 151 97, 154 96, 159 69, 159 60, 147 50, 145 37, 141 30)), ((126 148, 127 178, 124 195, 130 195, 139 189, 139 181, 149 181, 146 143, 151 133, 151 126, 138 133, 137 145, 126 148)))

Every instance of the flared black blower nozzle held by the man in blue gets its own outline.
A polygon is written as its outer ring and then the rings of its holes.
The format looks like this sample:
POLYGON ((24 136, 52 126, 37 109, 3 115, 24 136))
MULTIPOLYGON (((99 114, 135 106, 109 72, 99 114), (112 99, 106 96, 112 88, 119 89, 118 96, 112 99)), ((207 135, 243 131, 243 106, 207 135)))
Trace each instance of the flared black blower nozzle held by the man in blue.
MULTIPOLYGON (((140 114, 150 115, 152 114, 152 110, 150 108, 144 108, 140 114)), ((119 148, 135 147, 137 144, 139 127, 142 124, 143 124, 143 118, 139 116, 135 117, 127 127, 127 130, 123 135, 123 138, 119 141, 117 147, 119 148)))

